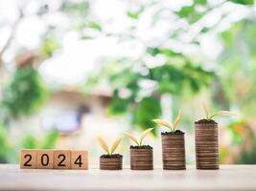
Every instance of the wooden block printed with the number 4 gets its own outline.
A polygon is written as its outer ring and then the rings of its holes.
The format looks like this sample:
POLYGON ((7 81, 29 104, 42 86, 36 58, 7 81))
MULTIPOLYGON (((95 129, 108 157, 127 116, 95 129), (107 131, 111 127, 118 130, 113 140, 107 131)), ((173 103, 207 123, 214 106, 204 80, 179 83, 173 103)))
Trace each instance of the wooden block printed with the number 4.
POLYGON ((88 169, 88 152, 85 150, 71 151, 71 168, 72 169, 88 169))

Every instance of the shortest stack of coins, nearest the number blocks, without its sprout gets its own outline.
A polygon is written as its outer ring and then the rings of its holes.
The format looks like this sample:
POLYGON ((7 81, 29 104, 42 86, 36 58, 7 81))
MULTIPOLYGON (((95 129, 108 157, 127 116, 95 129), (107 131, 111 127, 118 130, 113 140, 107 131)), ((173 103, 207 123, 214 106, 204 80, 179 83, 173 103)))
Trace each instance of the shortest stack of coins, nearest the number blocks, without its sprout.
POLYGON ((103 158, 100 159, 101 170, 122 170, 123 156, 120 158, 103 158))

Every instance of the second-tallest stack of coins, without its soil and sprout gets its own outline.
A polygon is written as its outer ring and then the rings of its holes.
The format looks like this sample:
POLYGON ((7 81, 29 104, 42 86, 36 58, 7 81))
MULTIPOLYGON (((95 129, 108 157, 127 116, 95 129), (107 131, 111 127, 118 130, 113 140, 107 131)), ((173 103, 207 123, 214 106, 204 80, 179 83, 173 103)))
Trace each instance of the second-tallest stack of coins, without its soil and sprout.
POLYGON ((184 170, 184 134, 162 134, 163 168, 165 170, 184 170))

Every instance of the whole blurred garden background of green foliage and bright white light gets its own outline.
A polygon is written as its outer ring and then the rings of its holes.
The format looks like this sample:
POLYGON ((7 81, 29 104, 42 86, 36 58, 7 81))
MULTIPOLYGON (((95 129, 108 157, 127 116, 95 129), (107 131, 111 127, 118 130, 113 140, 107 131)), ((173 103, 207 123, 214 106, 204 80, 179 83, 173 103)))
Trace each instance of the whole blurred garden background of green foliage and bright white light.
POLYGON ((96 163, 96 136, 138 134, 181 109, 194 163, 205 102, 237 114, 217 118, 221 163, 256 163, 253 0, 2 1, 0 36, 0 162, 81 147, 96 163))

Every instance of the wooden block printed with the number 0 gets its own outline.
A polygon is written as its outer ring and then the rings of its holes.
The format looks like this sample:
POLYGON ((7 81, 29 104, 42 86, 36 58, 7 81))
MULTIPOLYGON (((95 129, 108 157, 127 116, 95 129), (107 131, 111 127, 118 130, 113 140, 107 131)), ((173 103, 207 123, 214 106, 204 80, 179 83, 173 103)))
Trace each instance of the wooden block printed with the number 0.
POLYGON ((54 150, 37 150, 36 167, 42 168, 54 168, 54 150))

